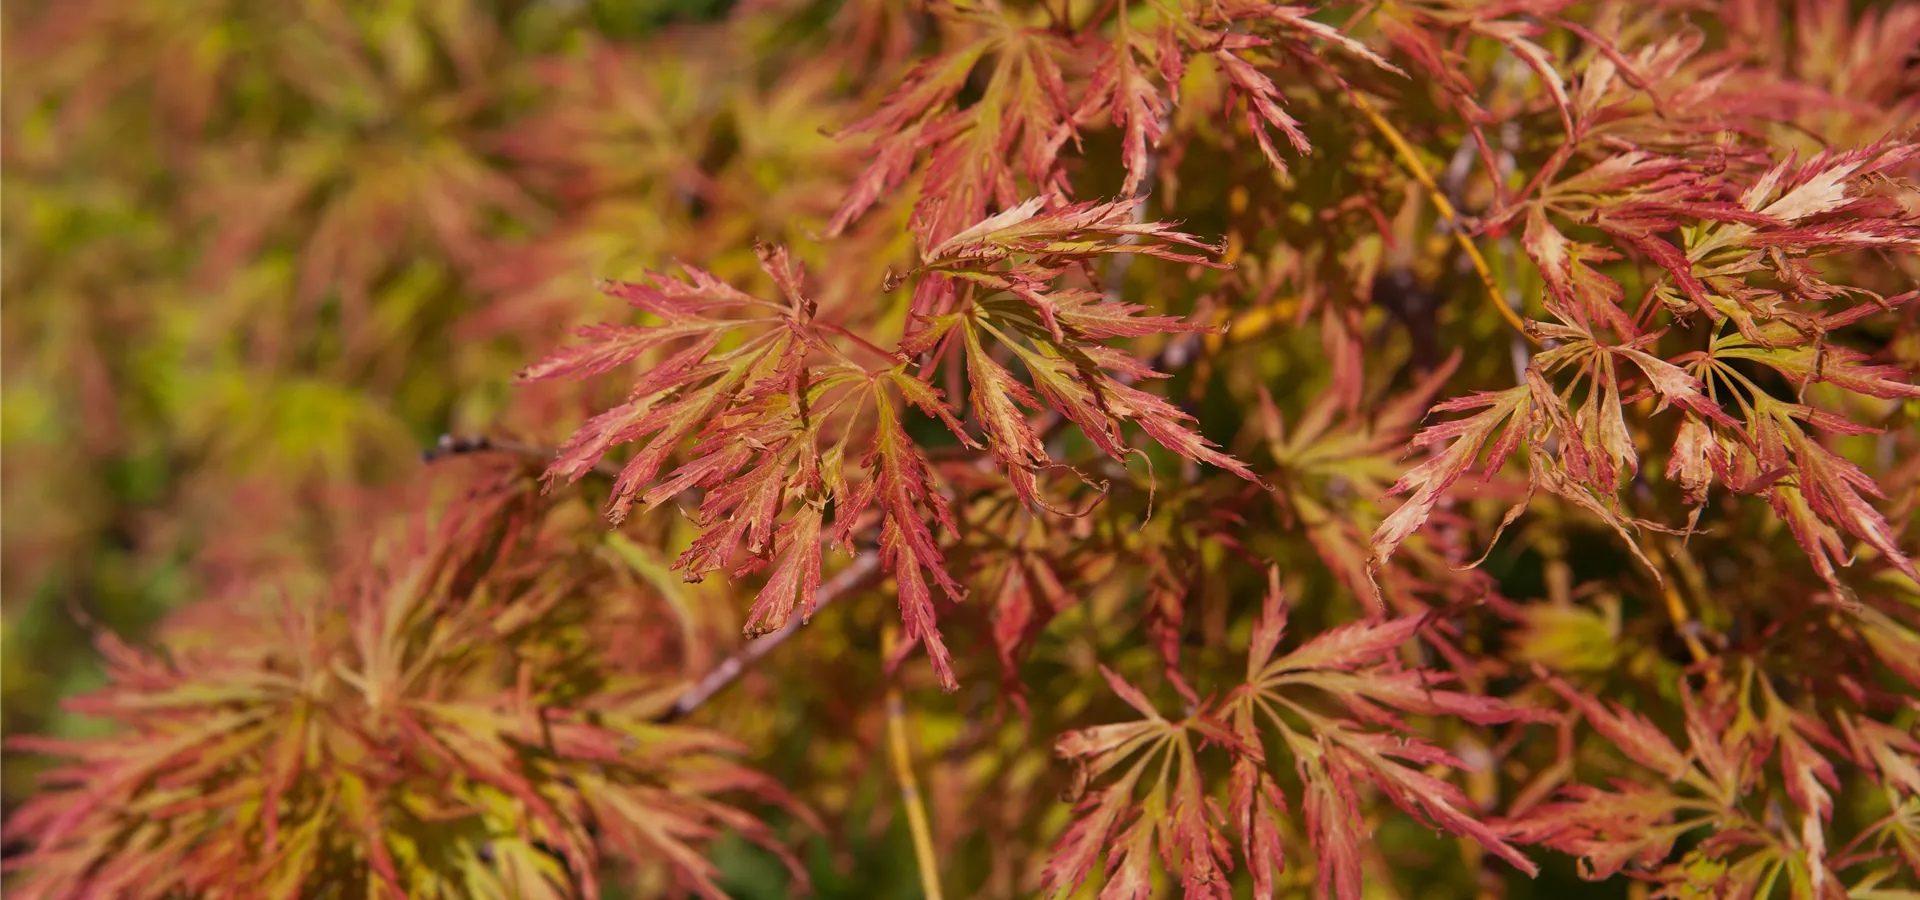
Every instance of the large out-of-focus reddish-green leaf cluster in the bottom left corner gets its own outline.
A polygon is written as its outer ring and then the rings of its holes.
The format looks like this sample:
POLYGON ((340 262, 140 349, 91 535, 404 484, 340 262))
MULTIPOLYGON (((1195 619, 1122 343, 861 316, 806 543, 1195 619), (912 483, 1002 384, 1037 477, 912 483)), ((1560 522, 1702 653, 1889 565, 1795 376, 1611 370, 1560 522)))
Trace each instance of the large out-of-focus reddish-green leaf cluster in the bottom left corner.
POLYGON ((781 787, 659 723, 674 679, 591 639, 641 599, 497 478, 330 593, 209 599, 217 645, 104 637, 111 687, 71 704, 123 731, 13 741, 69 760, 8 823, 13 896, 591 898, 612 864, 720 896, 703 841, 785 854, 720 800, 781 787))

